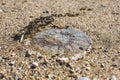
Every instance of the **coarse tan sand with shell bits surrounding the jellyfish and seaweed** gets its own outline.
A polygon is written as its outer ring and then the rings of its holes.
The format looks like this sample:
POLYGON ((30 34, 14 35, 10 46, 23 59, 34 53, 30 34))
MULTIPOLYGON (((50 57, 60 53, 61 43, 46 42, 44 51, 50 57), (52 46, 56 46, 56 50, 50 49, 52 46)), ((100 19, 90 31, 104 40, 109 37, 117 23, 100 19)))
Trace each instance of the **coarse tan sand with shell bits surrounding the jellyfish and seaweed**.
POLYGON ((85 76, 109 80, 112 75, 120 80, 120 0, 0 0, 0 79, 75 80, 85 76), (13 41, 13 34, 40 16, 66 13, 79 15, 56 17, 53 24, 86 33, 92 51, 70 62, 38 59, 37 54, 25 57, 31 46, 13 41), (32 64, 37 66, 30 69, 32 64))

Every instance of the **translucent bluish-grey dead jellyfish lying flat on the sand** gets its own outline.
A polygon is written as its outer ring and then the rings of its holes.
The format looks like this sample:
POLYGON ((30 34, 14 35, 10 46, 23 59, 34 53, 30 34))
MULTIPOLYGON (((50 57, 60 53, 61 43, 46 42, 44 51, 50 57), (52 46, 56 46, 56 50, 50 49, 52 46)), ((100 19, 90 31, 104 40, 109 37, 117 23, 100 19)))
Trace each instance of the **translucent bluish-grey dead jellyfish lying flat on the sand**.
POLYGON ((90 48, 91 43, 87 35, 73 29, 50 29, 38 32, 31 40, 46 54, 69 55, 71 59, 81 58, 90 48))

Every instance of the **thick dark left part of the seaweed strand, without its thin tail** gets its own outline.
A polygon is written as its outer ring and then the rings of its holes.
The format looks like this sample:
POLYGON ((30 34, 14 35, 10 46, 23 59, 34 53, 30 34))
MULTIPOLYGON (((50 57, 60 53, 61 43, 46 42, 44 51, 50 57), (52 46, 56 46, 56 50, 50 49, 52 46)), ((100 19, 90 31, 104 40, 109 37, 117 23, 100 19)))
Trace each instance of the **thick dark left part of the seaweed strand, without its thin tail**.
MULTIPOLYGON (((52 16, 39 17, 31 21, 24 29, 21 29, 19 33, 14 34, 13 40, 21 40, 21 37, 24 35, 24 38, 31 37, 36 32, 40 31, 40 28, 52 24, 54 18, 52 16)), ((21 41, 20 41, 21 42, 21 41)))

